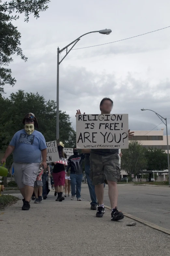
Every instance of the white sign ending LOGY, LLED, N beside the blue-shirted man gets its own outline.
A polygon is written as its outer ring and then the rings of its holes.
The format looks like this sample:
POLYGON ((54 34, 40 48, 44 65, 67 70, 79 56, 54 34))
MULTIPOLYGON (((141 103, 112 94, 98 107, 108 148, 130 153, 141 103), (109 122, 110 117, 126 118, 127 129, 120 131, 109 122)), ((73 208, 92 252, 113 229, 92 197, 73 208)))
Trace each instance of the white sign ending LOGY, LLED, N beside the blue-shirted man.
POLYGON ((58 154, 57 142, 49 141, 46 142, 47 145, 47 163, 59 161, 60 157, 58 154))

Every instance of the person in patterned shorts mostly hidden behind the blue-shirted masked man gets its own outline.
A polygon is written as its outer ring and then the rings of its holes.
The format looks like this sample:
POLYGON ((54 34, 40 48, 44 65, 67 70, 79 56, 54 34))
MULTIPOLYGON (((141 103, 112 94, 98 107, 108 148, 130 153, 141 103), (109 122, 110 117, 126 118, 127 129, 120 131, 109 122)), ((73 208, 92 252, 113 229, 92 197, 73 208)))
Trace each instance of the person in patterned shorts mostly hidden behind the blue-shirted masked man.
POLYGON ((43 174, 43 168, 40 166, 38 170, 38 175, 36 177, 36 180, 34 182, 34 193, 35 193, 35 204, 42 202, 42 188, 43 188, 43 182, 42 182, 42 174, 43 174))

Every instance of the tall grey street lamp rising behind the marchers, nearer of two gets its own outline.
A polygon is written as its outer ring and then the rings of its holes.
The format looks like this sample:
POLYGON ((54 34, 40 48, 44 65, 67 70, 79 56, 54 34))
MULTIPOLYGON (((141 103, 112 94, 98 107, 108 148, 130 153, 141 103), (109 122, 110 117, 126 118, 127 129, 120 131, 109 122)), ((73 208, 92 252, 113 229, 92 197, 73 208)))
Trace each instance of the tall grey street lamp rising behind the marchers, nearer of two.
MULTIPOLYGON (((91 33, 96 33, 96 32, 98 32, 100 34, 104 34, 104 35, 109 35, 112 31, 111 31, 111 29, 102 29, 102 30, 98 30, 98 31, 88 32, 82 36, 85 36, 85 35, 91 34, 91 33)), ((59 65, 65 59, 67 54, 72 50, 72 48, 75 46, 75 44, 78 43, 78 41, 80 40, 80 38, 82 36, 78 37, 76 40, 74 40, 72 43, 69 43, 61 50, 59 49, 59 47, 57 48, 57 110, 56 110, 56 141, 57 141, 57 143, 59 142, 59 65), (72 44, 73 44, 73 46, 68 50, 67 48, 72 44), (59 54, 62 53, 64 50, 66 51, 66 54, 63 57, 63 59, 61 61, 59 61, 59 54)))

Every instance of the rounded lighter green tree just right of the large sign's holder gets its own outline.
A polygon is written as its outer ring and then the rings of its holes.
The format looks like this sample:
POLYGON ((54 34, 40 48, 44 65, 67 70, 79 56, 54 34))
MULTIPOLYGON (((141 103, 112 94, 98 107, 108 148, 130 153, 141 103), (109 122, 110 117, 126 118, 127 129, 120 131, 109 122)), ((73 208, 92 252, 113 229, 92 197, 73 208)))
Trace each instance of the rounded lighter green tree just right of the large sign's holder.
POLYGON ((137 141, 130 141, 128 149, 122 149, 121 169, 125 170, 131 179, 131 175, 136 176, 141 170, 146 169, 147 158, 146 148, 137 141))

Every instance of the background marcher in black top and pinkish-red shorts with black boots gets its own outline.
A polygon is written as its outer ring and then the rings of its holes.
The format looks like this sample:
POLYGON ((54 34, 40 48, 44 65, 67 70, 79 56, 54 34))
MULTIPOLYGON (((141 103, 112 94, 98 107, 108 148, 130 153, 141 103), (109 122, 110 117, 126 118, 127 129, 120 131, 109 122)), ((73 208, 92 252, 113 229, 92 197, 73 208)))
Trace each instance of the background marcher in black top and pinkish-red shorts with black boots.
MULTIPOLYGON (((62 142, 57 144, 59 157, 67 158, 67 155, 63 152, 64 144, 62 142)), ((62 202, 65 198, 63 196, 63 188, 65 184, 65 167, 64 164, 53 162, 54 168, 52 177, 54 180, 54 186, 57 188, 57 199, 56 201, 62 202)))

